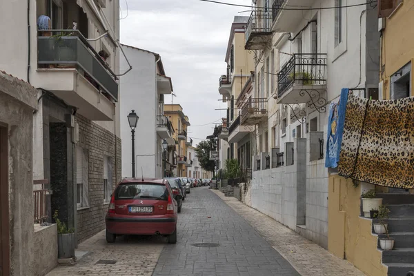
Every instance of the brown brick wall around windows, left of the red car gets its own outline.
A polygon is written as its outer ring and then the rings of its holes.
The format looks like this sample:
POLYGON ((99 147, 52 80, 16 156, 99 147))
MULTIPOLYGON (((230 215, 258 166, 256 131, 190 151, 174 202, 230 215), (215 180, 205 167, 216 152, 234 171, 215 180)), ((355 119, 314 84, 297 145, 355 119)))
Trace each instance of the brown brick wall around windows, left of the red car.
POLYGON ((77 211, 77 242, 80 243, 105 228, 108 204, 103 202, 103 157, 112 157, 113 189, 121 180, 121 139, 80 115, 76 116, 76 121, 79 146, 88 149, 89 170, 89 206, 77 211))

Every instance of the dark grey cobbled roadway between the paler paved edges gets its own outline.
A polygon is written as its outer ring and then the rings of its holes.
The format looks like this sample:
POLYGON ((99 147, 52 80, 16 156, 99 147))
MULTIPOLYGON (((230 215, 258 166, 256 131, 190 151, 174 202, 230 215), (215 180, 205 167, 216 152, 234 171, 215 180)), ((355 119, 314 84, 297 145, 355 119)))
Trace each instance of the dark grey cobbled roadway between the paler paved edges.
POLYGON ((299 275, 243 217, 207 188, 191 190, 177 234, 177 244, 164 247, 154 276, 299 275), (199 243, 217 247, 193 246, 199 243))

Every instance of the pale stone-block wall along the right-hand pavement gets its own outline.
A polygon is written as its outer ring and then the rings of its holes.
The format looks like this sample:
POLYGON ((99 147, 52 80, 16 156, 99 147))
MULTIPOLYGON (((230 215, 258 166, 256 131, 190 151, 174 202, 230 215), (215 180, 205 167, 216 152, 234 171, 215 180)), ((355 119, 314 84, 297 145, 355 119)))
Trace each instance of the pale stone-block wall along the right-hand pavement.
POLYGON ((253 172, 250 188, 242 200, 327 248, 328 179, 324 162, 308 160, 307 139, 286 144, 290 152, 293 146, 294 153, 285 157, 285 166, 253 172))

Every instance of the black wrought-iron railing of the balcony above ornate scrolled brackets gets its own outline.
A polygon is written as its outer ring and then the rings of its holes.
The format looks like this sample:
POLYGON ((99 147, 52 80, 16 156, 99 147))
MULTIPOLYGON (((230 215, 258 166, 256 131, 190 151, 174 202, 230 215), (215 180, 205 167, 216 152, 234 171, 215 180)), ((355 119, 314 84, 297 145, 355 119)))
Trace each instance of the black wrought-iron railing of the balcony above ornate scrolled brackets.
POLYGON ((326 54, 293 54, 277 74, 277 82, 279 97, 294 84, 326 84, 326 54))

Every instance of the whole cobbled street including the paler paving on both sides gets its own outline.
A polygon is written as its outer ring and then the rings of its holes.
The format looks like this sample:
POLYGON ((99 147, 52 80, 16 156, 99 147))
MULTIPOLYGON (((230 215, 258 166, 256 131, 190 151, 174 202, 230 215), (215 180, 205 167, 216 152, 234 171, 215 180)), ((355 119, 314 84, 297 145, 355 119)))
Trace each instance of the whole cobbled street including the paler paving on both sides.
POLYGON ((207 188, 192 189, 184 201, 175 245, 145 236, 107 244, 104 234, 79 245, 88 253, 76 266, 60 266, 48 276, 364 275, 234 197, 207 188))

